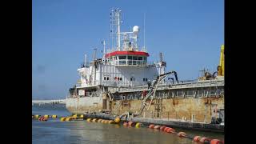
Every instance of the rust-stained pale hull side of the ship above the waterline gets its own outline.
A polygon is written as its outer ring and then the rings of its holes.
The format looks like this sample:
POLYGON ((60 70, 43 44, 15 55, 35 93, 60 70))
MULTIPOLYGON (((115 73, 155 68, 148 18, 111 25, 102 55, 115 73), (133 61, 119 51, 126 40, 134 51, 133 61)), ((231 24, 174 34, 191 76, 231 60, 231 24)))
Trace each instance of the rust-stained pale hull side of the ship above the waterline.
MULTIPOLYGON (((110 101, 107 98, 105 103, 103 106, 101 97, 67 98, 66 108, 74 114, 99 112, 103 107, 112 114, 138 114, 142 106, 141 100, 110 101)), ((224 98, 172 98, 154 100, 140 117, 210 123, 213 117, 218 118, 220 110, 224 110, 224 98)))

